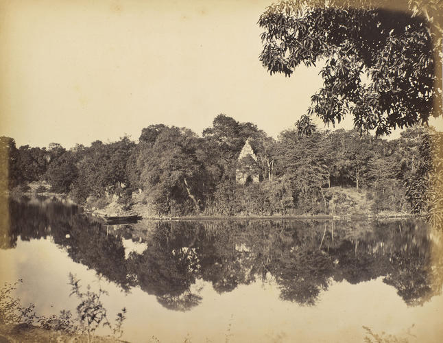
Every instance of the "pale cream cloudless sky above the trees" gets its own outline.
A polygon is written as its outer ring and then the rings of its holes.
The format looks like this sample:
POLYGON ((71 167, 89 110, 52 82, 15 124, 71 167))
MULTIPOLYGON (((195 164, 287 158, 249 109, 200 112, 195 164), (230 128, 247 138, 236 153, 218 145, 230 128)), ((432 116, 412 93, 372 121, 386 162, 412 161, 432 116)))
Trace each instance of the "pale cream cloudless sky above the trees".
POLYGON ((271 2, 0 0, 0 135, 136 141, 153 123, 201 134, 224 113, 276 137, 322 82, 315 68, 262 67, 256 22, 271 2))

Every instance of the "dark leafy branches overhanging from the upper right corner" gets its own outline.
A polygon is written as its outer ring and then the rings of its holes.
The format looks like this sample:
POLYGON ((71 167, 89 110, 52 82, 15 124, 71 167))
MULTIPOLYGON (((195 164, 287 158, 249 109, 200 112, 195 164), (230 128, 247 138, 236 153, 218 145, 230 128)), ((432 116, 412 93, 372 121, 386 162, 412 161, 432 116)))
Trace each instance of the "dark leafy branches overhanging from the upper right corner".
POLYGON ((280 1, 259 19, 260 60, 286 76, 322 64, 307 113, 390 134, 442 113, 442 12, 435 0, 280 1))

